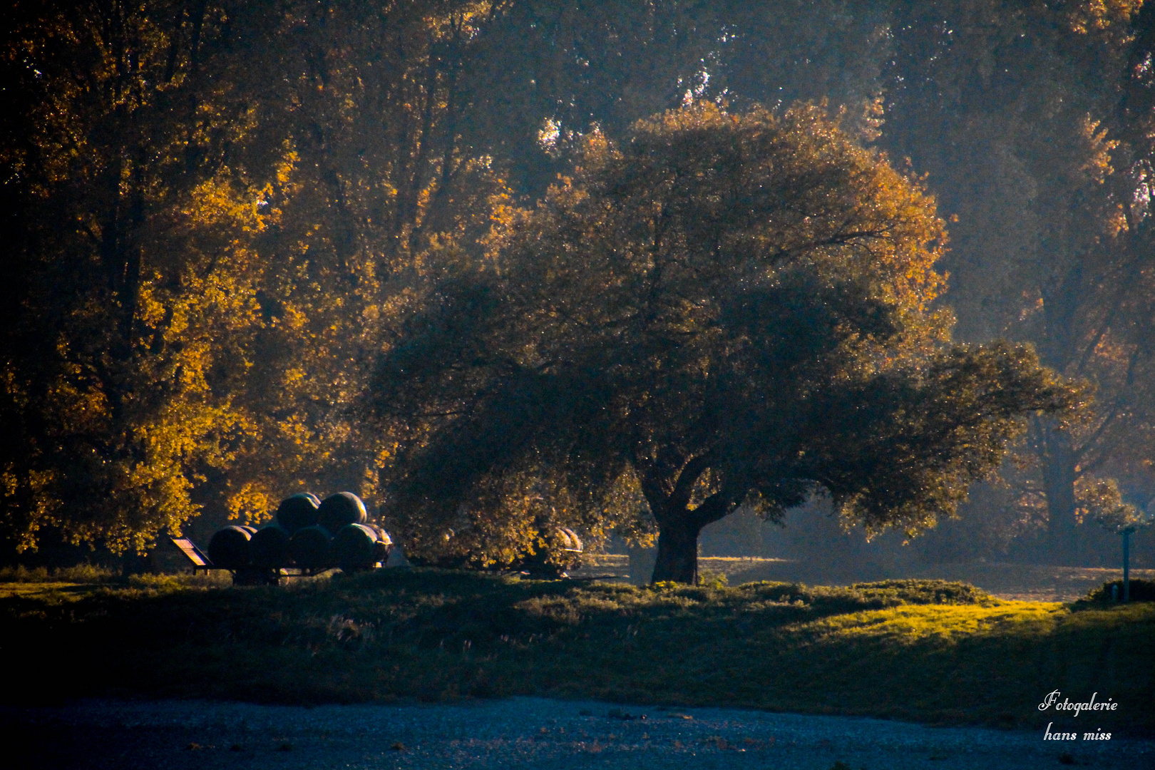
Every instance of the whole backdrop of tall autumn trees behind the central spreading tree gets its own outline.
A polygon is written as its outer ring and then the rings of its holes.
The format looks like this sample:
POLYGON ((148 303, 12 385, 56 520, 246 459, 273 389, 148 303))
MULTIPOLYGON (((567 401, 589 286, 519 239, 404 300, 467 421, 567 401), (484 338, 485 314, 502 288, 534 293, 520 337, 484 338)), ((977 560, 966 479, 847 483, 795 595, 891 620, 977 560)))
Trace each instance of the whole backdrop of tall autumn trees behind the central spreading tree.
MULTIPOLYGON (((364 419, 377 357, 595 130, 693 100, 826 100, 909 158, 956 337, 1091 383, 974 495, 983 537, 1079 559, 1080 522, 1155 495, 1141 2, 16 2, 0 33, 9 552, 378 499, 427 425, 364 419)), ((556 513, 517 478, 506 521, 556 513)), ((611 496, 567 509, 643 526, 611 496)))

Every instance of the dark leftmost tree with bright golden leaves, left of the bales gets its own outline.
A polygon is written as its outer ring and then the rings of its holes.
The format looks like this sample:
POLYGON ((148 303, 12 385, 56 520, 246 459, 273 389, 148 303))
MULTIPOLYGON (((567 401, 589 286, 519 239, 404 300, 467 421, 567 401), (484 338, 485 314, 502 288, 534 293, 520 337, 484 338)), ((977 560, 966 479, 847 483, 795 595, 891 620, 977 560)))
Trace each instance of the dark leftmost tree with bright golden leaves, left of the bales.
POLYGON ((238 21, 206 2, 5 10, 0 159, 18 219, 0 476, 17 548, 57 528, 143 550, 198 510, 196 477, 248 431, 229 390, 266 223, 260 181, 237 173, 253 128, 238 21))

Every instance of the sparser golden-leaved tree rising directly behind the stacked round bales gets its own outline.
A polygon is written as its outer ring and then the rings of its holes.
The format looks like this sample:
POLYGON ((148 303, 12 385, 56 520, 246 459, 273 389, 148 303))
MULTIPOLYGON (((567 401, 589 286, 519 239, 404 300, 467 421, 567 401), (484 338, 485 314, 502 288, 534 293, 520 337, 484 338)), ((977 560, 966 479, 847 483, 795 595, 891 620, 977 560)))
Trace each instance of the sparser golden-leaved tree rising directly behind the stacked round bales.
MULTIPOLYGON (((284 147, 263 210, 261 329, 238 388, 258 427, 218 496, 268 516, 286 491, 374 496, 390 426, 359 429, 349 405, 396 308, 424 301, 430 244, 469 249, 508 190, 479 147, 479 51, 502 2, 292 3, 260 50, 286 105, 267 120, 284 147)), ((276 21, 277 24, 273 24, 276 21)))

